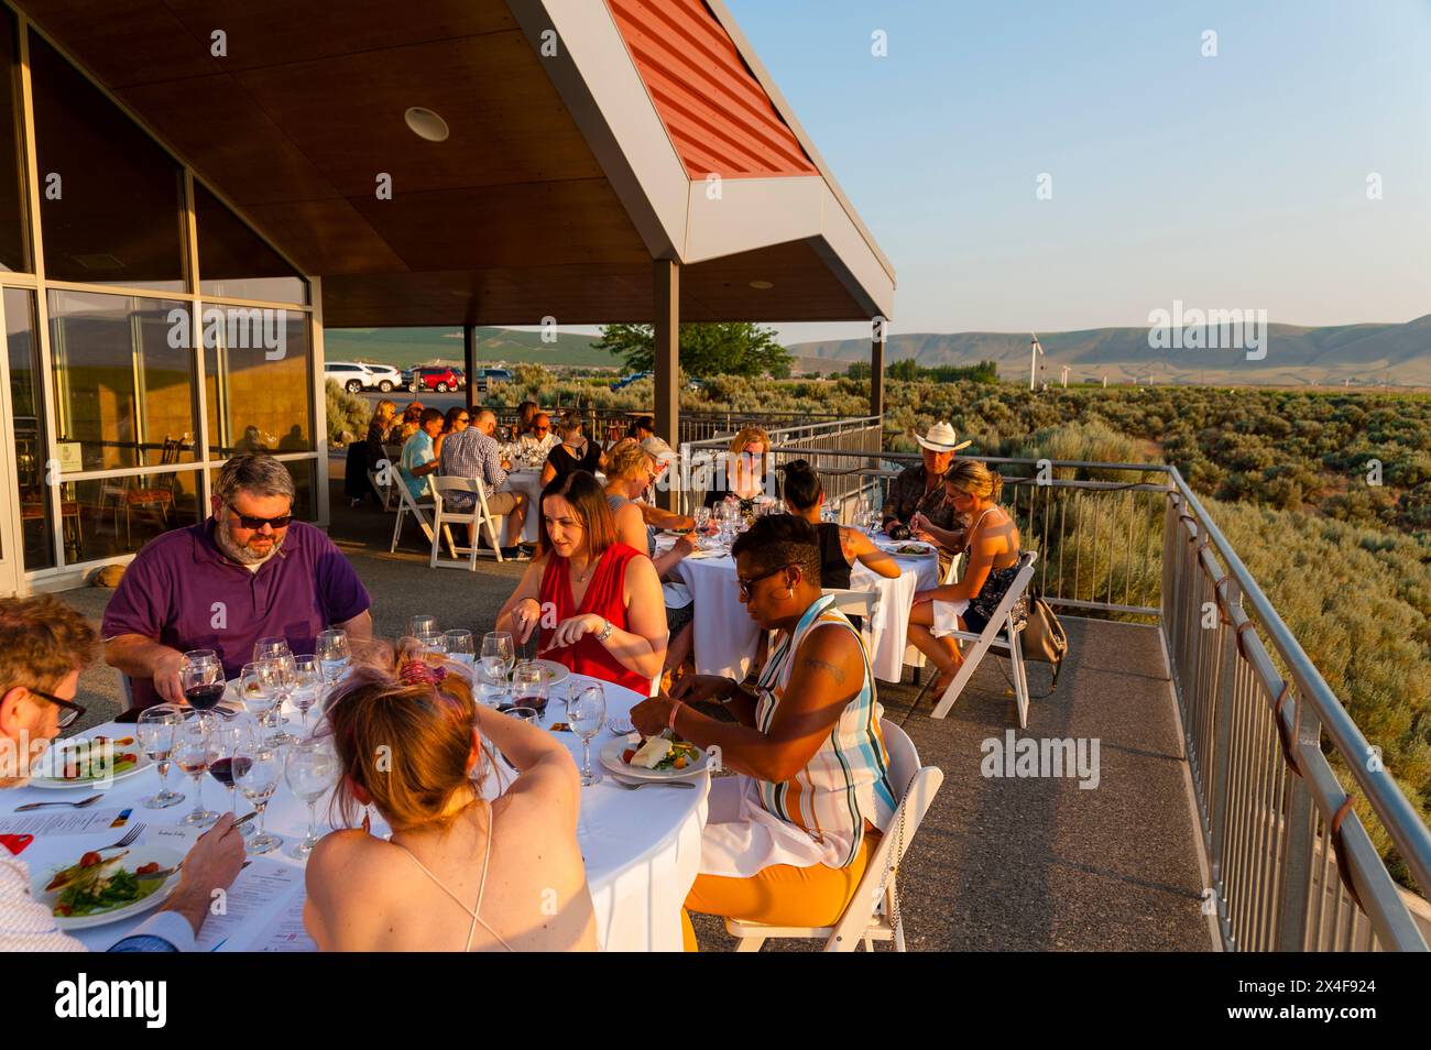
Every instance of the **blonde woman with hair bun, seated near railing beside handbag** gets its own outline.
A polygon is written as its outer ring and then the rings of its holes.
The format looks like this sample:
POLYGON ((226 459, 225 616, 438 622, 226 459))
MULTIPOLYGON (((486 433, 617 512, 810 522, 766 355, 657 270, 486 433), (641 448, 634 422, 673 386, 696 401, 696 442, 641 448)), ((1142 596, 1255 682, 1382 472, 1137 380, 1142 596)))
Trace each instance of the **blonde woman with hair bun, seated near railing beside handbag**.
MULTIPOLYGON (((944 495, 956 516, 972 522, 964 554, 964 576, 914 595, 909 614, 909 639, 939 668, 934 694, 954 681, 963 662, 954 631, 979 634, 999 608, 1005 592, 1019 575, 1019 528, 999 506, 1003 478, 977 459, 956 459, 944 475, 944 495), (959 612, 954 602, 967 602, 959 612)), ((1020 599, 1015 618, 1027 615, 1027 601, 1020 599)))

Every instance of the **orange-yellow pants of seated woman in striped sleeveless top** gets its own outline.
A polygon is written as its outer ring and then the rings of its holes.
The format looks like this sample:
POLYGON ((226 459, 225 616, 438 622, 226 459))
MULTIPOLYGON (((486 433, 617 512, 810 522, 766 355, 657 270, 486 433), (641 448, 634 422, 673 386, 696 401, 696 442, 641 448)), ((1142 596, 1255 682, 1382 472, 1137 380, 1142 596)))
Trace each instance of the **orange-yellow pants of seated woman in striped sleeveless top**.
POLYGON ((854 896, 870 853, 879 843, 880 833, 866 830, 859 853, 844 868, 771 864, 750 878, 697 875, 681 911, 685 950, 698 951, 691 911, 766 926, 834 926, 854 896))

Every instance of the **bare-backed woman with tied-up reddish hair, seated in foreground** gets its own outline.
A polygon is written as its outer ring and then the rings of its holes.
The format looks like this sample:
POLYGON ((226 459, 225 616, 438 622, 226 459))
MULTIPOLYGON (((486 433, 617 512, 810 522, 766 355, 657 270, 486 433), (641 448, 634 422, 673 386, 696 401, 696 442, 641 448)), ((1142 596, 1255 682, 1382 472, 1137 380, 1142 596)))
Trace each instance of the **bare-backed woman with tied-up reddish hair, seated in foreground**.
POLYGON ((323 717, 342 767, 335 808, 351 824, 373 805, 392 834, 348 828, 313 850, 303 926, 318 947, 594 951, 567 748, 474 702, 456 665, 414 649, 385 664, 355 669, 323 717), (492 748, 517 780, 487 801, 492 748))

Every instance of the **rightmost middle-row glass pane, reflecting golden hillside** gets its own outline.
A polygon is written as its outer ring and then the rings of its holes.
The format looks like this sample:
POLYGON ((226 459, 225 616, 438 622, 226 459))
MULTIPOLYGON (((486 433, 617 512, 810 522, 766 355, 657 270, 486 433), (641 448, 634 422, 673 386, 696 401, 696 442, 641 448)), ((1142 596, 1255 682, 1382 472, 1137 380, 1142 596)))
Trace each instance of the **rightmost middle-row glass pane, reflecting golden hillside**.
POLYGON ((313 355, 302 310, 203 305, 209 456, 313 451, 313 355))

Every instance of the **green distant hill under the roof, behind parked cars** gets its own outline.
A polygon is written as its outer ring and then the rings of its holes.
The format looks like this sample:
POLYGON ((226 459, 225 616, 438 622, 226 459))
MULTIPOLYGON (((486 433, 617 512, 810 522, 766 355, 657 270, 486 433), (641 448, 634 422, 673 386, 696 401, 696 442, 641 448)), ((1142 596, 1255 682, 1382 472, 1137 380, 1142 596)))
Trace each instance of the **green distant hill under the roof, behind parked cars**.
MULTIPOLYGON (((620 368, 621 360, 591 349, 594 336, 557 333, 544 343, 541 332, 509 328, 477 329, 477 359, 482 365, 571 365, 575 368, 620 368)), ((396 368, 429 362, 462 363, 459 328, 325 328, 323 356, 328 360, 366 360, 396 368)))

